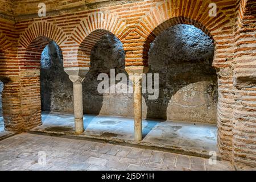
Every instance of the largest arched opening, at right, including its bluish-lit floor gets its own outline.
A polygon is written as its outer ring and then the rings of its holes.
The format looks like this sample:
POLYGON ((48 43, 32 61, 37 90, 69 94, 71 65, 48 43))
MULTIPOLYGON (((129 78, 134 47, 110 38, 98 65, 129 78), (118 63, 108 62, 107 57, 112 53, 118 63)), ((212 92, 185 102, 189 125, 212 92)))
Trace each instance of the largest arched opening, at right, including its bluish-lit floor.
POLYGON ((213 40, 193 25, 176 23, 158 30, 150 42, 148 73, 159 74, 159 97, 149 100, 143 94, 143 117, 148 125, 155 119, 164 122, 144 129, 144 140, 216 151, 218 83, 212 67, 213 40))

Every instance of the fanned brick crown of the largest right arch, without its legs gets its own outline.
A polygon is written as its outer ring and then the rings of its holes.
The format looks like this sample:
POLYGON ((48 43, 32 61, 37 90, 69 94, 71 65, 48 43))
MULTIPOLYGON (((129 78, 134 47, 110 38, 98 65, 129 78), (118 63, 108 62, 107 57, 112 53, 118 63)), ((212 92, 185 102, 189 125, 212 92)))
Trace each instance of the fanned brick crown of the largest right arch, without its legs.
POLYGON ((201 28, 206 34, 209 34, 209 32, 216 31, 223 24, 230 22, 229 17, 224 14, 224 11, 220 11, 222 7, 226 6, 225 3, 215 2, 217 5, 216 17, 209 16, 210 3, 212 3, 210 0, 181 0, 177 2, 167 0, 152 9, 147 16, 142 18, 139 24, 145 28, 145 34, 150 35, 153 31, 157 32, 158 30, 162 31, 168 28, 169 24, 164 23, 167 20, 182 17, 177 19, 181 21, 180 23, 193 24, 201 28))

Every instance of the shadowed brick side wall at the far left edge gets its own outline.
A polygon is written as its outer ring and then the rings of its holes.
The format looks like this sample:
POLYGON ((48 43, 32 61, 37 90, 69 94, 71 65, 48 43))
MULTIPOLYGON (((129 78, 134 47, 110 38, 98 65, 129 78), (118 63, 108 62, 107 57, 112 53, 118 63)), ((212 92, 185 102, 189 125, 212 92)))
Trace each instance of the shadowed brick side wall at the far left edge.
POLYGON ((20 110, 20 82, 17 59, 15 22, 0 18, 0 77, 5 83, 2 93, 3 117, 6 129, 20 131, 23 119, 20 110))

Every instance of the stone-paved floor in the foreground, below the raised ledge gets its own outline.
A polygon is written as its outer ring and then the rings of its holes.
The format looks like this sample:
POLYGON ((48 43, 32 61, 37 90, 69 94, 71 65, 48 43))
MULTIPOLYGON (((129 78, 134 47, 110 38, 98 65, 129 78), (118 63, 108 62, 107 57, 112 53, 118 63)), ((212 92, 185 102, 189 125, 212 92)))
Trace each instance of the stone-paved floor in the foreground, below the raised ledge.
POLYGON ((0 141, 0 170, 233 170, 228 162, 22 133, 0 141))

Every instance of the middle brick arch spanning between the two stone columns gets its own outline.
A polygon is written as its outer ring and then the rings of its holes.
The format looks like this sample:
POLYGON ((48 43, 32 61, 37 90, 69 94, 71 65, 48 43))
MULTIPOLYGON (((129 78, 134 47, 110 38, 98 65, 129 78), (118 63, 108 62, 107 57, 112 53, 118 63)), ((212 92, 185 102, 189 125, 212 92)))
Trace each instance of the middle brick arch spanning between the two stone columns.
POLYGON ((114 34, 121 39, 124 30, 126 23, 109 14, 94 13, 83 19, 71 36, 77 44, 77 51, 73 55, 77 65, 90 67, 90 52, 98 40, 106 34, 114 34))

